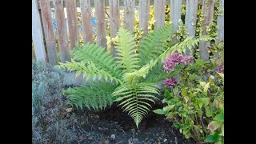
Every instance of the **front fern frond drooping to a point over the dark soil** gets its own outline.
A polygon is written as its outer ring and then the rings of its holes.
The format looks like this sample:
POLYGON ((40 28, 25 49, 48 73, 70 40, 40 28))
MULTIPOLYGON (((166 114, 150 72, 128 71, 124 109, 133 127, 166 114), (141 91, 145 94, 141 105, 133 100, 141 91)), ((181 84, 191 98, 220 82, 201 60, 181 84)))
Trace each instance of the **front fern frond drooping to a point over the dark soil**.
POLYGON ((156 98, 154 95, 159 94, 158 87, 153 83, 137 83, 124 84, 118 86, 113 92, 113 96, 117 97, 116 102, 122 101, 118 106, 124 108, 124 112, 128 112, 134 119, 136 126, 142 121, 144 115, 150 110, 150 103, 156 98))

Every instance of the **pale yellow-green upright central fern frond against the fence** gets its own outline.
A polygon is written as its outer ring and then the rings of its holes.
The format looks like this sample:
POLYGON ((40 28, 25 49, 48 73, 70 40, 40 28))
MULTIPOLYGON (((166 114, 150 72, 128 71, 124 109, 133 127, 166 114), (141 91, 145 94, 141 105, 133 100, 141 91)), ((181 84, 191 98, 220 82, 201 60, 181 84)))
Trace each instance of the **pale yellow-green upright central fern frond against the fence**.
POLYGON ((118 66, 123 70, 123 74, 133 72, 138 68, 138 54, 135 53, 134 35, 124 28, 118 30, 118 40, 115 43, 117 51, 118 66))

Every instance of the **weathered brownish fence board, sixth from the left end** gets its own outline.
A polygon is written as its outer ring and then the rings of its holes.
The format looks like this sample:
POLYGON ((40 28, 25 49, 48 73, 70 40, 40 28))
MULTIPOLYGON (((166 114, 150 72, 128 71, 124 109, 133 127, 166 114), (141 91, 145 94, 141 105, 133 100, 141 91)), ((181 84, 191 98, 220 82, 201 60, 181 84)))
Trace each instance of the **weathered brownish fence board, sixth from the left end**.
POLYGON ((97 44, 106 47, 105 0, 95 0, 97 44))

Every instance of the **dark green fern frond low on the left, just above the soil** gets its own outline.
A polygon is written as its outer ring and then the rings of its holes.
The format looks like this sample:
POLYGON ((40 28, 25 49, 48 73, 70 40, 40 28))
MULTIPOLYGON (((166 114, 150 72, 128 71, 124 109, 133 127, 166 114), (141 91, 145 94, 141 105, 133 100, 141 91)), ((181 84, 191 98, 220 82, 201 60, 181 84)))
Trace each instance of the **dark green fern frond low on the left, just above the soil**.
POLYGON ((64 90, 71 106, 77 108, 87 107, 89 110, 102 110, 106 106, 111 106, 114 102, 112 93, 117 86, 110 83, 93 82, 90 86, 79 86, 64 90))

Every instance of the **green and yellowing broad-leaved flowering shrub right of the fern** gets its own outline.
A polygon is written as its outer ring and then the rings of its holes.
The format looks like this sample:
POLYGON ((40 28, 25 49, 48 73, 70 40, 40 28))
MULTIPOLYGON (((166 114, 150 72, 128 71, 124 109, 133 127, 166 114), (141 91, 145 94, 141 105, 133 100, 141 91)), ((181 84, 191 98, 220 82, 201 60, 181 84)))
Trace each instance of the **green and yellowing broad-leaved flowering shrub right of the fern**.
POLYGON ((194 138, 198 143, 224 142, 222 62, 197 59, 184 66, 178 82, 172 82, 165 90, 162 102, 167 106, 154 110, 165 114, 186 138, 194 138))

